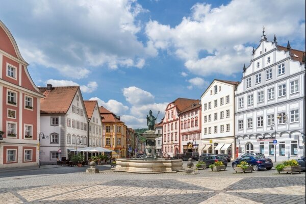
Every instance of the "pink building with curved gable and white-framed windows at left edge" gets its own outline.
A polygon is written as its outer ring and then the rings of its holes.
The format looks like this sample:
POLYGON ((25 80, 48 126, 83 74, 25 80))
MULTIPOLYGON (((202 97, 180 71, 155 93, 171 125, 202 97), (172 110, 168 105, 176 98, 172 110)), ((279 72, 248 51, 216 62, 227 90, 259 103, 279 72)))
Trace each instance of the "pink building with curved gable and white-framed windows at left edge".
POLYGON ((0 20, 0 168, 38 165, 42 95, 28 65, 0 20))

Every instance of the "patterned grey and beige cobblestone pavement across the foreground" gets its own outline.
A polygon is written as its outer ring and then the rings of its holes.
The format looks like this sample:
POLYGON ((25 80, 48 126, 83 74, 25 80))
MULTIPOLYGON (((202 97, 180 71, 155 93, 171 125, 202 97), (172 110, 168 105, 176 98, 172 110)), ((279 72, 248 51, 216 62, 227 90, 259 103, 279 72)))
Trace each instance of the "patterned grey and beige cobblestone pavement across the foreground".
POLYGON ((0 173, 0 203, 305 203, 305 173, 134 174, 99 167, 0 173))

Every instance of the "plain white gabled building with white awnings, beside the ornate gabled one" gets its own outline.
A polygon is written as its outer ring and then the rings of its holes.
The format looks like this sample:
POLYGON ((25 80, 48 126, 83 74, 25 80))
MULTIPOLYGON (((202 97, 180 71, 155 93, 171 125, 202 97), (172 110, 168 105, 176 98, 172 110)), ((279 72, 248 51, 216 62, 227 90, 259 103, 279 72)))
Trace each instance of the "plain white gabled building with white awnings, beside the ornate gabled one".
POLYGON ((235 90, 239 82, 214 80, 201 96, 200 153, 235 154, 235 90))

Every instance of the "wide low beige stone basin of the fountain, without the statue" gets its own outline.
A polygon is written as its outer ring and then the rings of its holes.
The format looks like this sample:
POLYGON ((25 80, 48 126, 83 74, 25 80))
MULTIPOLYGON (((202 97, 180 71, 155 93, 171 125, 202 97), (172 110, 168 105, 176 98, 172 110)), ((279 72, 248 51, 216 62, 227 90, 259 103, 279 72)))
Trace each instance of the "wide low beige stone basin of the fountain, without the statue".
POLYGON ((117 159, 114 171, 125 171, 132 173, 176 173, 184 171, 183 160, 158 159, 158 160, 139 160, 139 159, 117 159))

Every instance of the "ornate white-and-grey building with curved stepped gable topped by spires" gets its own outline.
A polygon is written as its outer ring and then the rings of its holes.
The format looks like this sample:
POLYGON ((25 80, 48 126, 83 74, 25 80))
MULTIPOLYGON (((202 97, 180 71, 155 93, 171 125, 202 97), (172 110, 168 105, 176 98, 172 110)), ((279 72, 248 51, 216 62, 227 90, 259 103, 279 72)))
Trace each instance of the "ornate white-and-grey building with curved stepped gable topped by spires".
POLYGON ((304 58, 289 42, 287 47, 279 46, 275 36, 273 42, 267 41, 263 31, 236 92, 239 154, 261 152, 272 159, 276 154, 277 161, 303 155, 304 58))

